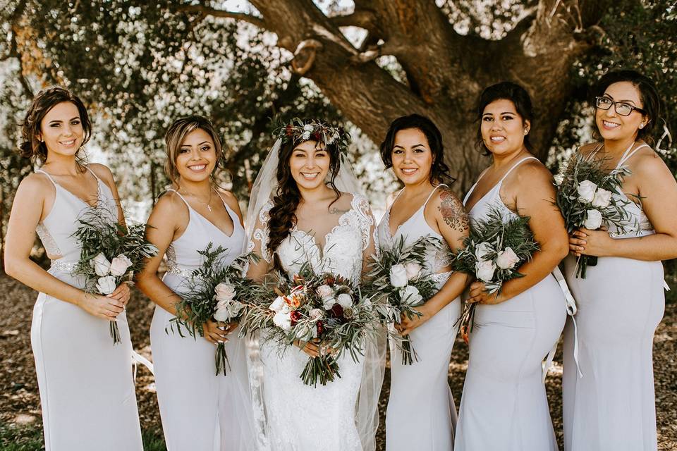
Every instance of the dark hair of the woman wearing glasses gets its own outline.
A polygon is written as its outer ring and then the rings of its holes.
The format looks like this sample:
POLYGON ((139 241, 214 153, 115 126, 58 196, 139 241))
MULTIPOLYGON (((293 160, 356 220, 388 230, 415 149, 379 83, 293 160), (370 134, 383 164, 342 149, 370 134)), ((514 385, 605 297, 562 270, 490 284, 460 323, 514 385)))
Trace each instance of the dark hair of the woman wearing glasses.
MULTIPOLYGON (((636 70, 611 70, 602 75, 591 91, 590 104, 595 105, 595 97, 602 97, 606 88, 618 82, 630 82, 640 92, 640 100, 642 101, 642 110, 645 116, 649 118, 643 128, 638 129, 637 137, 639 140, 644 140, 647 144, 654 144, 654 127, 661 115, 661 99, 656 89, 656 84, 646 75, 642 75, 636 70)), ((597 112, 597 106, 595 106, 597 112)), ((597 123, 594 124, 595 137, 598 139, 602 137, 597 129, 597 123)))

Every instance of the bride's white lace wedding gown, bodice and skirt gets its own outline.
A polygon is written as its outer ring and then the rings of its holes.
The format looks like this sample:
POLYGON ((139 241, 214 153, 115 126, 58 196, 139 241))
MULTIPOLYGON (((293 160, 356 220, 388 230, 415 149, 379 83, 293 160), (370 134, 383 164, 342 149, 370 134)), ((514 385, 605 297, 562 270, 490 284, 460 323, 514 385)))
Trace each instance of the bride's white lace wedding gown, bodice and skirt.
MULTIPOLYGON (((267 223, 271 208, 272 202, 268 202, 261 209, 259 221, 263 228, 256 228, 252 234, 252 245, 269 262, 272 255, 267 252, 267 223)), ((294 227, 279 245, 276 254, 288 276, 293 276, 307 261, 315 272, 328 271, 359 283, 364 252, 374 243, 375 235, 374 219, 367 199, 353 194, 350 209, 341 215, 338 224, 325 236, 322 249, 314 235, 294 227)), ((280 354, 276 344, 264 340, 260 346, 266 424, 264 449, 354 451, 373 446, 375 429, 373 433, 363 430, 358 418, 362 413, 377 413, 375 405, 374 412, 360 412, 359 405, 367 390, 372 390, 375 385, 380 390, 380 381, 372 381, 366 374, 374 364, 370 360, 370 352, 367 351, 367 357, 358 363, 344 352, 338 359, 341 378, 327 385, 312 387, 305 385, 300 378, 308 360, 307 354, 297 347, 288 347, 280 354), (367 360, 370 362, 365 364, 367 360), (367 387, 370 383, 374 386, 367 387)), ((378 393, 375 396, 378 397, 378 393)))

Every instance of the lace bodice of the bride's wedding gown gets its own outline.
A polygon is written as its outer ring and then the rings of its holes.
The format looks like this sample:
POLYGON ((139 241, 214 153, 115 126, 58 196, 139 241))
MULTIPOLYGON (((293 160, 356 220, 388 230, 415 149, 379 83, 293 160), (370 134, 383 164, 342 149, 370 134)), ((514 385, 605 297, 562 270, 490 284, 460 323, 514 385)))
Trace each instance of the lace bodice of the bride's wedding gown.
MULTIPOLYGON (((273 257, 267 249, 269 240, 267 225, 272 206, 273 203, 270 201, 261 209, 259 214, 261 227, 255 228, 250 242, 250 250, 254 249, 255 241, 259 242, 262 258, 268 263, 273 257)), ((289 236, 279 245, 277 254, 283 269, 290 277, 297 273, 305 262, 309 262, 316 273, 328 271, 358 283, 362 273, 362 254, 372 240, 377 242, 369 202, 365 197, 353 194, 350 209, 338 218, 338 224, 327 233, 324 247, 320 247, 315 235, 294 226, 289 236)))

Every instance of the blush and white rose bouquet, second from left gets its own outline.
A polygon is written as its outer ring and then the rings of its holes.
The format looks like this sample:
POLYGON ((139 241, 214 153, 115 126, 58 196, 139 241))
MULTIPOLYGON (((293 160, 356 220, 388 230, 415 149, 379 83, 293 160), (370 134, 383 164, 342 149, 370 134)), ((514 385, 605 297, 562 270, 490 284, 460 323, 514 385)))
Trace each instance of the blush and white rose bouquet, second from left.
MULTIPOLYGON (((245 299, 256 297, 260 288, 252 280, 245 278, 245 268, 248 261, 256 260, 255 254, 245 254, 237 257, 231 264, 223 264, 226 249, 215 247, 209 243, 206 249, 197 251, 202 255, 202 265, 193 271, 181 290, 181 301, 175 304, 176 317, 172 318, 169 328, 173 331, 176 326, 178 334, 184 326, 191 337, 197 334, 204 335, 202 325, 207 320, 224 323, 238 322, 245 310, 245 299)), ((216 375, 231 366, 226 355, 224 343, 216 345, 216 375)))

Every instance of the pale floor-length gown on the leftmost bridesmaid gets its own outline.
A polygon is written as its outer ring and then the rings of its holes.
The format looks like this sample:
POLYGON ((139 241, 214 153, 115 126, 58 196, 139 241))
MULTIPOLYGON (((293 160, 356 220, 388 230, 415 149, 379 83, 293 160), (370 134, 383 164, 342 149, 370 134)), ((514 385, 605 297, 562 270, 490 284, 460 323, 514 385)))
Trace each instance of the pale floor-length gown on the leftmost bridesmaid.
MULTIPOLYGON (((89 168, 87 168, 89 170, 89 168)), ((84 278, 71 276, 80 259, 73 238, 77 218, 88 205, 45 171, 56 197, 37 234, 51 261, 49 273, 77 288, 84 278)), ((96 175, 90 171, 94 177, 96 175)), ((117 221, 113 193, 97 177, 97 208, 117 221)), ((75 305, 39 293, 30 329, 42 404, 47 451, 142 450, 141 428, 132 376, 127 317, 118 315, 121 342, 114 345, 109 321, 75 305)))

